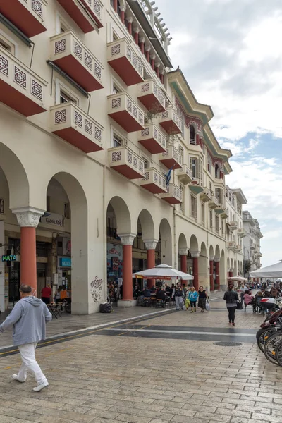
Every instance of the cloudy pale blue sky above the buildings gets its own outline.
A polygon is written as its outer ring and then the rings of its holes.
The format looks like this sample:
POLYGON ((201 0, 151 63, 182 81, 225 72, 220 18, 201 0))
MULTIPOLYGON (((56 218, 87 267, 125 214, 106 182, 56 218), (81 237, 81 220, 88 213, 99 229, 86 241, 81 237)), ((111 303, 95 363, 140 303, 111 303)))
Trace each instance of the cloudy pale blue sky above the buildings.
POLYGON ((170 56, 231 149, 231 188, 260 223, 262 265, 282 259, 282 1, 158 0, 170 56))

